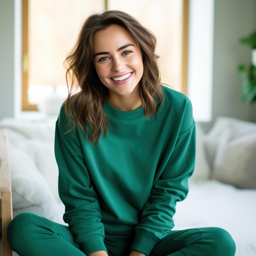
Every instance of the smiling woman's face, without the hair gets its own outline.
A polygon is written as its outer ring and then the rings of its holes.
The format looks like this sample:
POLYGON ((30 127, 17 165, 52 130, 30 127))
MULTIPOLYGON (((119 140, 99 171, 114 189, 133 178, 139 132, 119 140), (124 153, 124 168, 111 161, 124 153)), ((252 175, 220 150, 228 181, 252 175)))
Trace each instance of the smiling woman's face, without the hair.
POLYGON ((111 25, 94 35, 93 46, 95 69, 109 89, 109 99, 137 97, 143 62, 139 45, 128 31, 111 25))

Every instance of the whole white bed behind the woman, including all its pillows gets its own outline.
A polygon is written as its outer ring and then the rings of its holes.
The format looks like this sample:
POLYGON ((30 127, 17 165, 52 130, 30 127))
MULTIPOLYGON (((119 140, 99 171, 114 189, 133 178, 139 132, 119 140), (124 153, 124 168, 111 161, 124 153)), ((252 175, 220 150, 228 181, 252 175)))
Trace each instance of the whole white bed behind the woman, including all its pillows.
MULTIPOLYGON (((33 211, 63 223, 55 120, 0 121, 9 139, 13 216, 33 211)), ((177 203, 175 229, 222 227, 236 242, 236 256, 256 256, 256 124, 220 117, 207 135, 197 124, 195 173, 189 186, 187 198, 177 203)))

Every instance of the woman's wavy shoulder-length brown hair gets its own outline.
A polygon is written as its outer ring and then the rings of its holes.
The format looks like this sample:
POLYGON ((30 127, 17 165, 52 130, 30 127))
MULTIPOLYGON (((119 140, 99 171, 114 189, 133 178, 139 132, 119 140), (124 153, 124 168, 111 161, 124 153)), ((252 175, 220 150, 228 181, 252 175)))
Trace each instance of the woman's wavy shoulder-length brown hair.
POLYGON ((103 111, 103 105, 108 99, 108 88, 101 83, 94 67, 93 37, 97 31, 114 24, 124 27, 141 49, 144 73, 139 82, 139 96, 144 116, 156 117, 163 102, 154 34, 122 11, 105 11, 89 16, 64 62, 69 89, 64 109, 71 130, 80 127, 84 132, 85 129, 88 140, 95 145, 101 133, 106 137, 108 131, 108 116, 103 111))

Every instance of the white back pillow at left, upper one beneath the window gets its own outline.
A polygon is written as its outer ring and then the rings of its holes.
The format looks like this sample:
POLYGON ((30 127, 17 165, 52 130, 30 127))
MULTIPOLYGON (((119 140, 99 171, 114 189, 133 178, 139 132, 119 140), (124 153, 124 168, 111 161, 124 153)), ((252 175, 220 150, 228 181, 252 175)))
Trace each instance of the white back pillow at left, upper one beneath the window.
POLYGON ((7 132, 8 140, 23 153, 47 181, 54 198, 58 195, 58 166, 54 155, 55 119, 28 121, 3 119, 0 127, 7 132))

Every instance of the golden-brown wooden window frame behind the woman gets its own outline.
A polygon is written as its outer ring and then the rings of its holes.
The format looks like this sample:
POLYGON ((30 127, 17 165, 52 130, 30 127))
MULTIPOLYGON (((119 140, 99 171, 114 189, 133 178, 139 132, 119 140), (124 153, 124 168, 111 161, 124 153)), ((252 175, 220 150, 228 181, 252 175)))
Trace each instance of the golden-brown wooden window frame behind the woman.
MULTIPOLYGON (((28 102, 28 34, 29 34, 29 0, 22 0, 22 111, 37 111, 37 105, 28 102)), ((108 0, 104 0, 105 10, 108 9, 108 0)), ((182 60, 181 60, 181 92, 187 94, 188 79, 188 43, 189 42, 189 0, 182 0, 182 60)))

